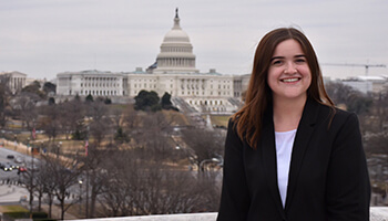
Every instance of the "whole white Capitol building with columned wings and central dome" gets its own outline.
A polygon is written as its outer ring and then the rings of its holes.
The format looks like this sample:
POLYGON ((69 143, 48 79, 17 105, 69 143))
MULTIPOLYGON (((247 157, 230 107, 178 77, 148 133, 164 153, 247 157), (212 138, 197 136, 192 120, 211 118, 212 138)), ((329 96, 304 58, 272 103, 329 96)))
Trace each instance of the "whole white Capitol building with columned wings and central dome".
POLYGON ((238 108, 249 75, 206 73, 195 67, 193 45, 180 24, 177 10, 173 28, 165 34, 156 62, 133 72, 82 71, 57 74, 59 97, 101 96, 112 101, 131 99, 140 91, 172 95, 174 105, 195 112, 231 113, 238 108))

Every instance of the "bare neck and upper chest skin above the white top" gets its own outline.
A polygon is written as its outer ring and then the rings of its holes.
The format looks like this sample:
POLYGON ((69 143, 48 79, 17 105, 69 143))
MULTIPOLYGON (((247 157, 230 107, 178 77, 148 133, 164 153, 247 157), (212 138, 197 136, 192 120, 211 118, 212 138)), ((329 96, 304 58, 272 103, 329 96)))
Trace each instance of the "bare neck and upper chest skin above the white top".
POLYGON ((274 99, 275 131, 297 129, 307 97, 298 99, 274 99))

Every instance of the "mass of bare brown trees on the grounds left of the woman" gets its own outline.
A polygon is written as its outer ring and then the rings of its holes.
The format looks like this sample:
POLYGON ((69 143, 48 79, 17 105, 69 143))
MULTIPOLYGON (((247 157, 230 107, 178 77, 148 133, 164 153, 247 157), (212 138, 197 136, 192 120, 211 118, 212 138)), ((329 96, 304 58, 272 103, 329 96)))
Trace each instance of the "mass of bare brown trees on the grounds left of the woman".
POLYGON ((14 112, 8 120, 31 133, 30 140, 18 141, 44 149, 20 175, 38 210, 43 201, 57 203, 62 219, 75 206, 83 218, 217 210, 221 160, 206 160, 223 155, 225 133, 190 123, 171 95, 160 99, 144 91, 133 105, 91 96, 55 103, 31 91, 2 95, 14 112), (33 140, 33 130, 48 140, 33 140))

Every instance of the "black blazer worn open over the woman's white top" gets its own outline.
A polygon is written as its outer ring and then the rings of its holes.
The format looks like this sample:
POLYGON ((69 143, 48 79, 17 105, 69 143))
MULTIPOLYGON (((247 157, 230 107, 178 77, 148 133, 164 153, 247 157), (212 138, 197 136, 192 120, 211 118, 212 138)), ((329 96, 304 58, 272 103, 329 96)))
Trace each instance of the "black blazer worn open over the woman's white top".
POLYGON ((277 186, 273 112, 264 117, 257 149, 229 120, 217 221, 367 221, 370 183, 355 114, 308 99, 295 136, 287 198, 277 186))

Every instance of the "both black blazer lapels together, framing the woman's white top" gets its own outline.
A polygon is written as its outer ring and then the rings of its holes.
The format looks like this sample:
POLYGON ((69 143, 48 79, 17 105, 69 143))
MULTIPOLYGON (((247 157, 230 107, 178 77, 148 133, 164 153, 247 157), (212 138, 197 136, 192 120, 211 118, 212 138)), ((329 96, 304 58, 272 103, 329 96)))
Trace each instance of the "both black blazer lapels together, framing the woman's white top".
POLYGON ((274 120, 273 120, 272 105, 268 106, 267 112, 264 114, 262 138, 258 147, 261 147, 261 151, 263 156, 265 156, 263 157, 263 164, 266 168, 266 172, 268 177, 267 183, 269 186, 270 193, 274 198, 276 207, 278 208, 284 219, 286 219, 285 211, 288 208, 287 206, 293 200, 293 193, 294 193, 295 186, 300 171, 300 167, 303 164, 303 158, 308 147, 310 136, 314 131, 313 130, 314 125, 316 124, 316 120, 317 120, 318 107, 319 107, 319 104, 317 102, 315 102, 312 98, 307 98, 303 110, 303 115, 297 128, 294 147, 293 147, 285 210, 283 209, 280 193, 279 193, 278 183, 277 183, 275 127, 274 127, 274 120))

